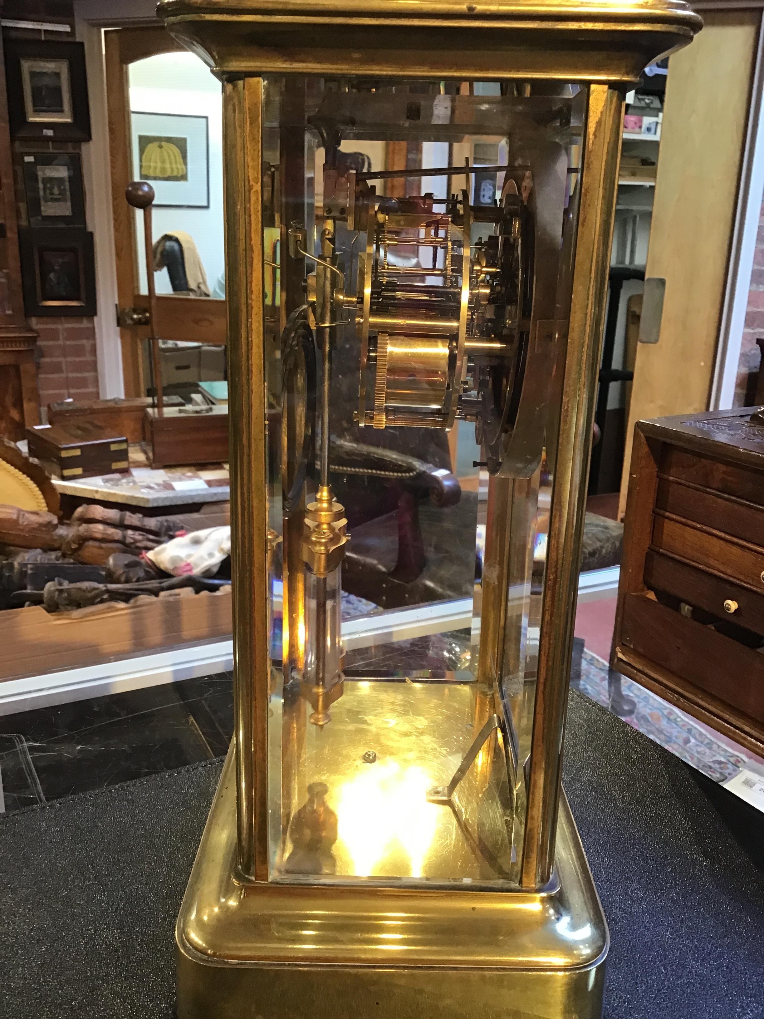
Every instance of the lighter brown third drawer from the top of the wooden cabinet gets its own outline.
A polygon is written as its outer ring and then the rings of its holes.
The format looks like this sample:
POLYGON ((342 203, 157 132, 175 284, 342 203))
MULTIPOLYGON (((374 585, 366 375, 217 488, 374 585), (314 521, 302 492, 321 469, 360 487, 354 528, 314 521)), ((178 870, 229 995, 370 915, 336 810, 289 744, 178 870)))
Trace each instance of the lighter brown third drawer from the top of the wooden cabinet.
POLYGON ((653 547, 764 591, 764 549, 656 514, 653 547))

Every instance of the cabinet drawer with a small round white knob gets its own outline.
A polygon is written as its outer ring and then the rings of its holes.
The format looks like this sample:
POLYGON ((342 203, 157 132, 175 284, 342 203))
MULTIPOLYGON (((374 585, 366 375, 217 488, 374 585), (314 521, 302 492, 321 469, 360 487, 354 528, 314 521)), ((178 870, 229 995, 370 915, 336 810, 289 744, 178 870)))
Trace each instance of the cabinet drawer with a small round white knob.
POLYGON ((728 620, 764 636, 764 592, 756 594, 747 587, 714 577, 697 567, 677 562, 660 552, 647 553, 645 583, 654 591, 671 594, 689 605, 718 615, 720 620, 728 620))

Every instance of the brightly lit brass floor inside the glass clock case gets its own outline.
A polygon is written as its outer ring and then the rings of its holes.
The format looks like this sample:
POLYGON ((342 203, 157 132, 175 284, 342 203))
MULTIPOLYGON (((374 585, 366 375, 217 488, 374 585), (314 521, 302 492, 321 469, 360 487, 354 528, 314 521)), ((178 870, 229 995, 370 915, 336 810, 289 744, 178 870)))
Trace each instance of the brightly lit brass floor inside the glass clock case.
POLYGON ((293 830, 281 851, 272 832, 274 876, 293 879, 302 868, 316 881, 516 884, 510 784, 495 740, 485 741, 455 788, 453 809, 428 802, 428 792, 447 786, 480 740, 490 704, 476 683, 345 680, 324 727, 307 723, 311 708, 302 699, 284 709, 302 715, 296 751, 280 739, 295 727, 282 727, 281 700, 272 697, 271 817, 280 812, 279 796, 293 817, 305 809, 307 790, 320 784, 336 825, 335 841, 321 854, 295 847, 293 830))

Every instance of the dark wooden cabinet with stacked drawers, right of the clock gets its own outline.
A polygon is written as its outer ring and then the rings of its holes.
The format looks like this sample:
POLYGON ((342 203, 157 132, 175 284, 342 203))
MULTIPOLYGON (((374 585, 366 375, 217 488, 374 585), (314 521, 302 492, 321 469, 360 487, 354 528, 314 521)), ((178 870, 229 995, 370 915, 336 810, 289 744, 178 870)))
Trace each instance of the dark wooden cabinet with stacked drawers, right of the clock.
POLYGON ((637 423, 612 665, 764 752, 764 424, 637 423))

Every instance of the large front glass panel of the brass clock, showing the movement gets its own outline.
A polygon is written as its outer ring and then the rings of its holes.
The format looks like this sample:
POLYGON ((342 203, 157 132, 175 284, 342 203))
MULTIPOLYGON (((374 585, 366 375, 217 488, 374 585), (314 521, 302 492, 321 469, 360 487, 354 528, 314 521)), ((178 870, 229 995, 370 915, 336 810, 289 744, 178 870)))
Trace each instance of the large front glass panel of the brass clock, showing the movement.
POLYGON ((522 92, 266 79, 274 880, 519 880, 586 111, 522 92))

